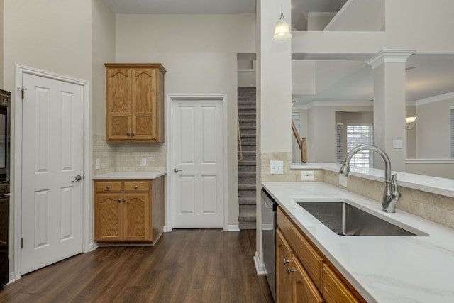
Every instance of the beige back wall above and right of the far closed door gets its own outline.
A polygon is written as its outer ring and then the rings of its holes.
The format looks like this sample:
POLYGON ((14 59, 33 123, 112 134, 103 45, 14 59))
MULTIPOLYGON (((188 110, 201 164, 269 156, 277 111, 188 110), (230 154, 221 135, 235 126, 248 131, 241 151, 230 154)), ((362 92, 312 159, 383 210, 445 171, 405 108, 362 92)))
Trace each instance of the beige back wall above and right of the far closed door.
POLYGON ((238 53, 255 53, 253 14, 116 16, 116 62, 162 63, 165 94, 227 94, 229 225, 238 225, 238 53))

